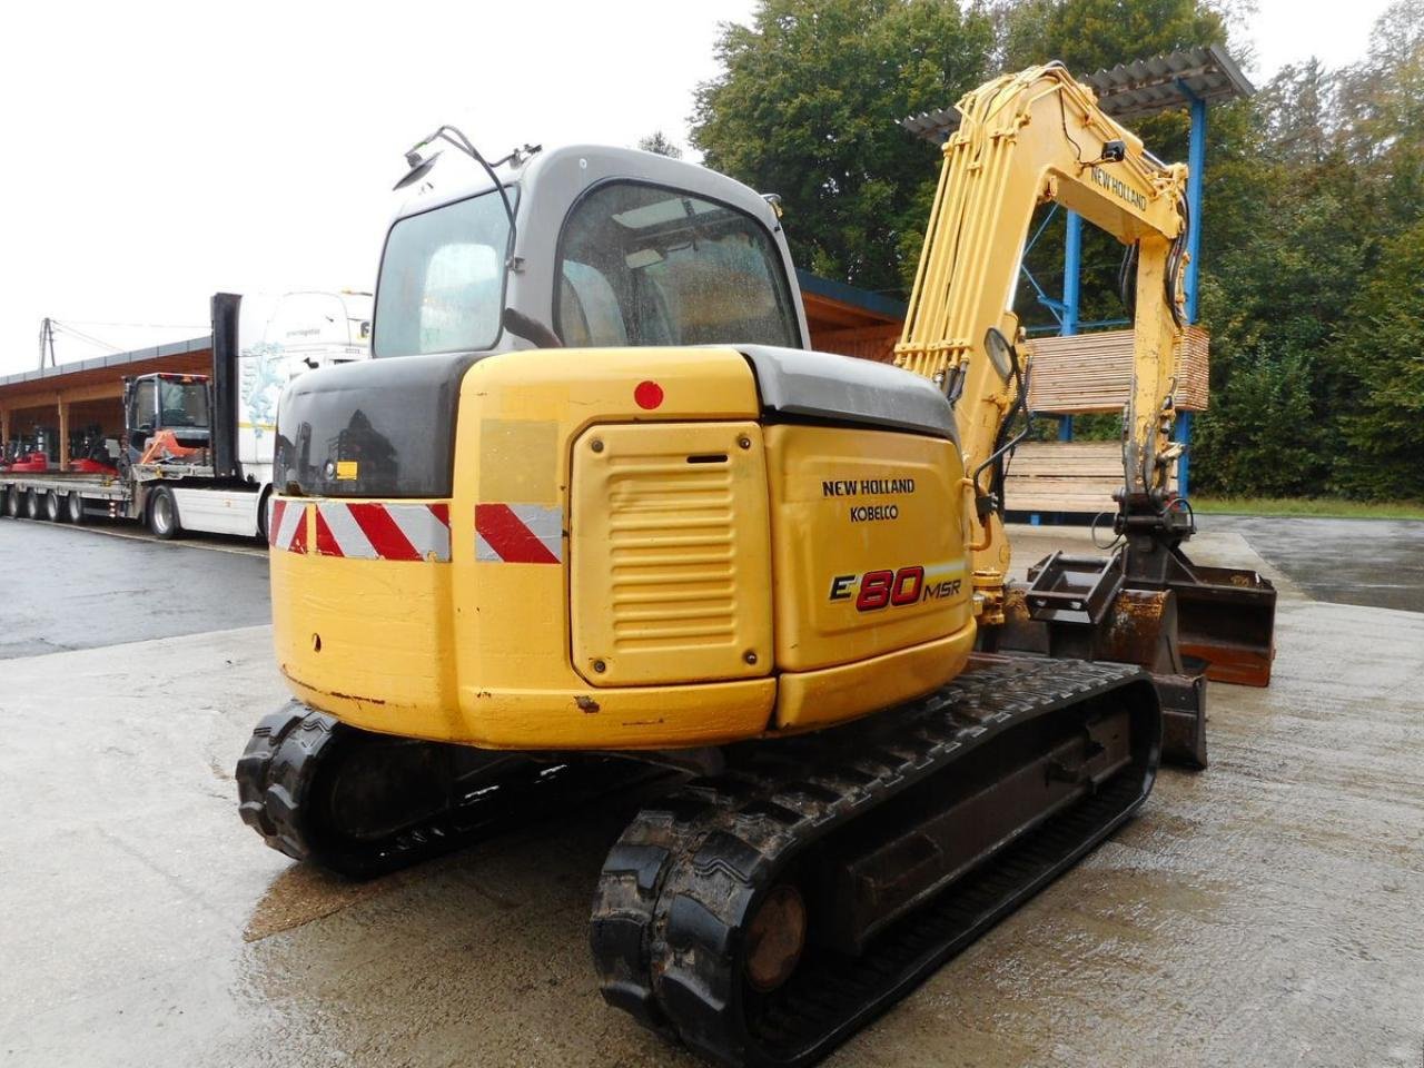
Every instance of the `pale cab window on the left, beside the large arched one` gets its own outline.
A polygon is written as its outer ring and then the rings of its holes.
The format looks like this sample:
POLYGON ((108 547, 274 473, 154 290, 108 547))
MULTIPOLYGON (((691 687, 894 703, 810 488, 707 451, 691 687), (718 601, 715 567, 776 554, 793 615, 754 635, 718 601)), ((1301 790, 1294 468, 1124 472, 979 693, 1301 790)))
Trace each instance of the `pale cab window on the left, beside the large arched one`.
POLYGON ((510 221, 494 191, 392 226, 376 286, 372 355, 493 347, 504 308, 508 234, 510 221))

